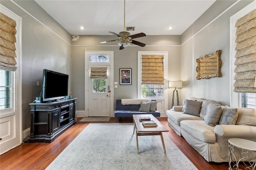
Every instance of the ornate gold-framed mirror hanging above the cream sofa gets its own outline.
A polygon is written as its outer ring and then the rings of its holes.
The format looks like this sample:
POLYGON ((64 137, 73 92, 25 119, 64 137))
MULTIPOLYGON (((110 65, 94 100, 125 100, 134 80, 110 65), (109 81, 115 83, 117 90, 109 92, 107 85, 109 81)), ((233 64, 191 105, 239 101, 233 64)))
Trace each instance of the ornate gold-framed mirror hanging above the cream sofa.
POLYGON ((220 54, 221 50, 218 50, 216 53, 206 54, 204 57, 196 59, 197 80, 222 76, 220 71, 222 65, 220 54))

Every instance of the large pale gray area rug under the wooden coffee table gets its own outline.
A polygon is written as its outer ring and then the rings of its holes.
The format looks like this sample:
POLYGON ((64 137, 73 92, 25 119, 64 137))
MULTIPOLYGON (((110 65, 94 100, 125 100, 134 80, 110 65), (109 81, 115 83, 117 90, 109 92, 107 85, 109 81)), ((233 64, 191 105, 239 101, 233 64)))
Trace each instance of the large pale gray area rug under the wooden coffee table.
POLYGON ((90 123, 47 170, 197 170, 164 132, 138 136, 132 123, 90 123))

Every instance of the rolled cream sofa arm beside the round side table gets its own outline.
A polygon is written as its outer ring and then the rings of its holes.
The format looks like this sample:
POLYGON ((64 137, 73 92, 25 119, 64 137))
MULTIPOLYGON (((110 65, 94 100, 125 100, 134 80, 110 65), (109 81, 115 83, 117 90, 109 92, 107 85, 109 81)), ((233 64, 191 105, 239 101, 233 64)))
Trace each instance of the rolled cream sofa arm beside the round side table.
POLYGON ((216 138, 256 138, 256 126, 250 125, 216 125, 216 138))

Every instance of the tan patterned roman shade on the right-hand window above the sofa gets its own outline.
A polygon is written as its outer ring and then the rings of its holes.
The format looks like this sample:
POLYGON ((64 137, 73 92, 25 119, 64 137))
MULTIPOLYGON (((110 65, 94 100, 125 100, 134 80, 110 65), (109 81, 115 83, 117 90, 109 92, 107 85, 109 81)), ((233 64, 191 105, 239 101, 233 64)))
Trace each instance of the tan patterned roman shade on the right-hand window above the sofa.
POLYGON ((236 21, 236 73, 234 91, 256 93, 256 10, 236 21))

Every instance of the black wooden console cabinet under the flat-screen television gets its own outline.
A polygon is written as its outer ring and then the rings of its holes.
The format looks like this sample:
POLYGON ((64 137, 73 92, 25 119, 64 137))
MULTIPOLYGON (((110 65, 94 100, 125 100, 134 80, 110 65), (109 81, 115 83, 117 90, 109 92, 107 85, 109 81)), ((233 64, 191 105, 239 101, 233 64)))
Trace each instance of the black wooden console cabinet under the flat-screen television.
POLYGON ((51 103, 30 103, 31 127, 28 142, 50 143, 76 124, 76 99, 51 103))

